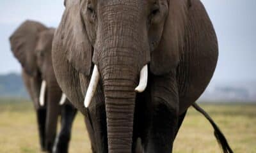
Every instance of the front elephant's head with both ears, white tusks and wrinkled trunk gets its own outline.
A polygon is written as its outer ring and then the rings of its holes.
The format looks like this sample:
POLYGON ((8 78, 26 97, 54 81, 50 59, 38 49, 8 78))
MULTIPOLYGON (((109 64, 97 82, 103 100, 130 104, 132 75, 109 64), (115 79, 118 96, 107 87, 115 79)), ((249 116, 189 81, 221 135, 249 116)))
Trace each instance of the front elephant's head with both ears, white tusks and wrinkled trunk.
POLYGON ((88 106, 102 82, 109 152, 131 152, 136 92, 147 87, 148 72, 163 75, 176 68, 188 5, 178 0, 65 1, 53 42, 54 71, 77 106, 81 95, 88 106), (90 78, 86 95, 79 88, 81 75, 90 78))

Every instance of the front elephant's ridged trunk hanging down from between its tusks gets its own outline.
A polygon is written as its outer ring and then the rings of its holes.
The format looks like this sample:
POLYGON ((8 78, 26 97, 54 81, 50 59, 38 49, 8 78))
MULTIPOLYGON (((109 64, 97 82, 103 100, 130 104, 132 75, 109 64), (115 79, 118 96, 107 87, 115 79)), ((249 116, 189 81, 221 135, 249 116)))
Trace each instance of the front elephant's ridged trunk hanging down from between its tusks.
POLYGON ((128 75, 129 72, 124 71, 125 68, 122 69, 103 70, 108 150, 111 153, 132 151, 136 81, 132 79, 132 73, 128 75))

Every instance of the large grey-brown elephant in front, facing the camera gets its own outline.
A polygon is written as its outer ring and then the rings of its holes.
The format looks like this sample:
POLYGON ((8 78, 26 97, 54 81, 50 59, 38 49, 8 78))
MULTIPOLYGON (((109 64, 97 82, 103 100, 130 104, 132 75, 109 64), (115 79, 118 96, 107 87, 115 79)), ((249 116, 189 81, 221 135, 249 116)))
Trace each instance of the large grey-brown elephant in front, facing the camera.
MULTIPOLYGON (((186 112, 191 105, 200 108, 195 101, 218 60, 204 5, 200 0, 64 4, 52 63, 61 89, 86 117, 93 152, 172 152, 186 112)), ((221 145, 228 145, 214 129, 221 145)), ((232 152, 229 146, 223 151, 232 152)))

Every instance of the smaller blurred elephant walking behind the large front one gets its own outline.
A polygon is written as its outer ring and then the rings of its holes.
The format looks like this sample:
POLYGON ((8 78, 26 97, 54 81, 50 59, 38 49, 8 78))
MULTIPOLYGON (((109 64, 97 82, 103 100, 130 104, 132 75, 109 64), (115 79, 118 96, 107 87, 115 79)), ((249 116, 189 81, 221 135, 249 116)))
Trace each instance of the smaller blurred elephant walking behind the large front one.
POLYGON ((26 20, 10 36, 10 44, 22 66, 22 78, 33 101, 41 149, 47 152, 68 152, 72 122, 77 110, 62 94, 54 75, 51 58, 54 31, 39 22, 26 20), (64 104, 60 105, 59 101, 64 104), (56 137, 59 115, 61 131, 56 137))

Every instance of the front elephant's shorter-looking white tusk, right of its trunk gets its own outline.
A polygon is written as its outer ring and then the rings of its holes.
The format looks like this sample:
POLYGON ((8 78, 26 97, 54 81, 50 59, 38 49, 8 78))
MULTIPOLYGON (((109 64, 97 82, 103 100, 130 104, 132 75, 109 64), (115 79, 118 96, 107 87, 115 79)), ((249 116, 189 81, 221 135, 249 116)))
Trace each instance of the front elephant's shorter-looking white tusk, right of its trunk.
POLYGON ((140 83, 138 87, 135 88, 136 92, 143 92, 147 87, 148 82, 148 65, 143 66, 140 71, 140 83))

